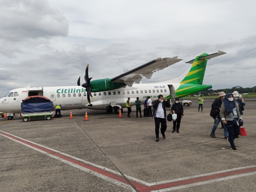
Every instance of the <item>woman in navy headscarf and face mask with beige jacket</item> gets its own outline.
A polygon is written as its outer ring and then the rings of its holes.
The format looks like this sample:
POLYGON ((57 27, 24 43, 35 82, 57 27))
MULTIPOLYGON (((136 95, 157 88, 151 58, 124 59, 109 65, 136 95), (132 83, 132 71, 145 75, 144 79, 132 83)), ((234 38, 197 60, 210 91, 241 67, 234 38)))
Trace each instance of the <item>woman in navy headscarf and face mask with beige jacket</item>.
POLYGON ((234 140, 240 134, 240 127, 233 125, 233 120, 236 117, 242 119, 240 116, 238 103, 234 101, 234 96, 232 93, 227 93, 224 97, 223 104, 220 107, 220 118, 227 127, 227 140, 232 151, 237 151, 234 140))

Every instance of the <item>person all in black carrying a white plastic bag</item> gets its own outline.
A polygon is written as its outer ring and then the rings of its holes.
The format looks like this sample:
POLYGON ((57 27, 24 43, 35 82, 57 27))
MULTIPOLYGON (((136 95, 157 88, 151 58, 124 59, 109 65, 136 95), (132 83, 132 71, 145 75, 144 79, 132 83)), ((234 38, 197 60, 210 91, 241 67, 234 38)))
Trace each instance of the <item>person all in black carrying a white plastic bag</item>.
POLYGON ((180 103, 180 100, 178 97, 175 98, 175 103, 172 105, 172 109, 171 109, 172 113, 176 113, 177 114, 177 119, 176 121, 173 121, 173 127, 172 127, 172 133, 174 133, 175 131, 177 133, 180 133, 180 121, 181 118, 183 117, 183 106, 180 103))

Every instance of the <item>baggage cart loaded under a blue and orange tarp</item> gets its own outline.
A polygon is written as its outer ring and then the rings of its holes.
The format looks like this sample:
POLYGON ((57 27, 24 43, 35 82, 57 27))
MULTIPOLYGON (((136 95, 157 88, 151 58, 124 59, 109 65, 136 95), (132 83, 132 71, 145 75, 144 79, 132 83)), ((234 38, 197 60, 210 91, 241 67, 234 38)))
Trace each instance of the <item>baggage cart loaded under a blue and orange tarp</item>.
POLYGON ((53 116, 53 102, 43 96, 30 96, 22 100, 21 117, 23 121, 51 120, 53 116))

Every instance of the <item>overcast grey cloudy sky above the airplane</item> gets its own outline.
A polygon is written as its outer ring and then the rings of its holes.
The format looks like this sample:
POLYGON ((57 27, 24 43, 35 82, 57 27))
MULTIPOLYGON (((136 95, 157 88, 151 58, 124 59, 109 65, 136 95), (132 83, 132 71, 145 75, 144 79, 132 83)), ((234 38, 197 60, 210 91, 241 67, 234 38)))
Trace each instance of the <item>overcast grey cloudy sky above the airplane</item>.
POLYGON ((112 78, 157 57, 184 59, 142 83, 180 76, 202 52, 212 89, 256 85, 256 1, 0 0, 0 97, 30 86, 112 78))

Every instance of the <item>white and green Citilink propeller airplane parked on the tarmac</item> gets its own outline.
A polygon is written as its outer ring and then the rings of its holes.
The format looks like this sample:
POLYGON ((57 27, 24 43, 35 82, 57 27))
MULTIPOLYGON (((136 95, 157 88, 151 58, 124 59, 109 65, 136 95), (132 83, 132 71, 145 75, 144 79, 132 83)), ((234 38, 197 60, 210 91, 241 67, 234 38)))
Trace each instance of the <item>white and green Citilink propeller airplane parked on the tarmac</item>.
MULTIPOLYGON (((201 53, 195 59, 186 62, 192 64, 192 66, 181 76, 151 84, 141 84, 142 77, 150 79, 156 71, 173 65, 182 59, 178 59, 178 57, 159 57, 114 78, 93 81, 91 81, 92 77, 89 78, 88 76, 89 65, 87 65, 84 84, 80 85, 79 77, 77 86, 28 86, 27 88, 13 89, 1 98, 0 111, 5 111, 7 118, 11 120, 21 113, 22 100, 35 95, 49 98, 54 106, 60 105, 61 110, 89 108, 106 110, 109 113, 114 111, 116 114, 119 114, 119 109, 121 109, 121 113, 123 112, 128 97, 131 99, 131 106, 135 105, 137 97, 142 100, 150 96, 153 102, 158 99, 159 94, 162 94, 164 98, 171 102, 175 97, 182 98, 211 89, 212 85, 203 84, 207 61, 223 54, 226 54, 226 52, 201 53), (133 84, 134 82, 136 84, 133 84), (93 99, 92 102, 90 97, 93 99)), ((144 103, 144 100, 142 100, 142 103, 144 103)))

